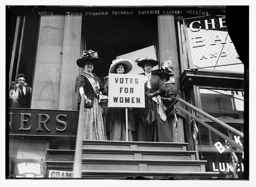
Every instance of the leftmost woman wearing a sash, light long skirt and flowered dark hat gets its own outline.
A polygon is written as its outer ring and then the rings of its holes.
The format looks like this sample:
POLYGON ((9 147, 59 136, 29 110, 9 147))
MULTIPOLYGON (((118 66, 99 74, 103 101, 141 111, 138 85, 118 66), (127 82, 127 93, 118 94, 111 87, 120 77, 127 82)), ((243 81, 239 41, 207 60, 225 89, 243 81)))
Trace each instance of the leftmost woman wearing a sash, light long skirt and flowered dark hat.
POLYGON ((77 60, 77 65, 84 69, 84 73, 76 78, 75 91, 78 93, 79 103, 81 102, 81 95, 85 94, 83 139, 86 140, 106 140, 102 112, 99 105, 99 94, 103 90, 103 84, 100 78, 92 73, 95 65, 100 62, 101 59, 98 58, 97 52, 92 50, 83 51, 82 56, 77 60))

